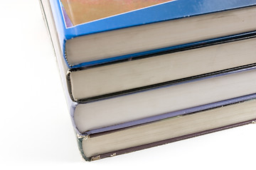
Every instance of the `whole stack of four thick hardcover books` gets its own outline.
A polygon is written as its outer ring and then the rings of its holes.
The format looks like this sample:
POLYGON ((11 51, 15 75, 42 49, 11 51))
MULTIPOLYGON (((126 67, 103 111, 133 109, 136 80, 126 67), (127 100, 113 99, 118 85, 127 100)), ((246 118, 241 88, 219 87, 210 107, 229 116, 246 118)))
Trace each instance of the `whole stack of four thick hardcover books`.
POLYGON ((82 157, 255 123, 256 0, 41 0, 82 157))

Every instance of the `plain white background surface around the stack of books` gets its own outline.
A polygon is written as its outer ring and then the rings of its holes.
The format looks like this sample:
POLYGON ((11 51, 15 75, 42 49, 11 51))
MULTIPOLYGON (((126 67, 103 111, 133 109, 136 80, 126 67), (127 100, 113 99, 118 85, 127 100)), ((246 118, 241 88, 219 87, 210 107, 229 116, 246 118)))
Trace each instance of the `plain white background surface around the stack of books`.
POLYGON ((0 7, 0 169, 255 169, 256 125, 84 162, 38 1, 0 7))

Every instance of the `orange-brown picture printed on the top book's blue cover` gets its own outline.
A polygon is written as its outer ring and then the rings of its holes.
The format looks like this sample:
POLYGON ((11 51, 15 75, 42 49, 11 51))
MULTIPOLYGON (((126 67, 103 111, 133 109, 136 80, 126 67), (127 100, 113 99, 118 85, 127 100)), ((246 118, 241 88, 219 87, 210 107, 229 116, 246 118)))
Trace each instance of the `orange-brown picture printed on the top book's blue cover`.
POLYGON ((70 27, 168 1, 173 0, 61 0, 61 3, 66 25, 70 27))

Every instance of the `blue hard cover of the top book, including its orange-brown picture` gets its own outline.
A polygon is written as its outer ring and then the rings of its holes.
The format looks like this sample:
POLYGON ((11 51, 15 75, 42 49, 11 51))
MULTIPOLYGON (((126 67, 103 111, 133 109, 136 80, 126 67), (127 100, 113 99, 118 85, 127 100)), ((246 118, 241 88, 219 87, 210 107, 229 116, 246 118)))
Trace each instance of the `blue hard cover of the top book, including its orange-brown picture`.
MULTIPOLYGON (((65 56, 67 40, 121 28, 142 26, 149 23, 200 16, 237 8, 255 6, 256 0, 50 0, 50 7, 57 27, 60 47, 69 68, 129 59, 154 52, 181 47, 164 47, 128 55, 112 56, 87 62, 70 64, 65 56)), ((171 33, 171 30, 170 30, 171 33)), ((192 43, 193 44, 193 43, 192 43)), ((86 48, 86 47, 85 47, 86 48)))

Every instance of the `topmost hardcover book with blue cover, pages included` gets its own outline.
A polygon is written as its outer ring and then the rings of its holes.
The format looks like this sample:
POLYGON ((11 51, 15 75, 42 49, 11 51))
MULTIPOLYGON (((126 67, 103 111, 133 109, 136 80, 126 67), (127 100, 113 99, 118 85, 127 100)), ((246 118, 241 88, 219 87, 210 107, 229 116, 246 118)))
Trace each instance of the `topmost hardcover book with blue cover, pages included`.
POLYGON ((256 0, 50 0, 70 69, 256 30, 256 0))

